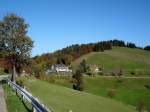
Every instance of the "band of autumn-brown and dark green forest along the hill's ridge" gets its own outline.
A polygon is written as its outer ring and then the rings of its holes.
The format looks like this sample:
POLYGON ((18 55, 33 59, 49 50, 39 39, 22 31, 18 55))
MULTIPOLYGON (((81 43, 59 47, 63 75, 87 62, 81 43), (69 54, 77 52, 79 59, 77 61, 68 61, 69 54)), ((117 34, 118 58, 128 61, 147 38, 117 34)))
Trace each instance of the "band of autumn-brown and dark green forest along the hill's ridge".
POLYGON ((63 48, 62 50, 58 50, 54 53, 47 53, 41 56, 35 56, 32 62, 34 67, 40 69, 50 68, 52 64, 56 63, 57 64, 63 63, 66 65, 70 65, 72 61, 76 60, 82 55, 91 52, 104 52, 105 50, 111 50, 112 46, 150 50, 150 46, 146 46, 145 48, 139 48, 134 43, 125 43, 122 40, 109 40, 81 45, 75 44, 63 48))

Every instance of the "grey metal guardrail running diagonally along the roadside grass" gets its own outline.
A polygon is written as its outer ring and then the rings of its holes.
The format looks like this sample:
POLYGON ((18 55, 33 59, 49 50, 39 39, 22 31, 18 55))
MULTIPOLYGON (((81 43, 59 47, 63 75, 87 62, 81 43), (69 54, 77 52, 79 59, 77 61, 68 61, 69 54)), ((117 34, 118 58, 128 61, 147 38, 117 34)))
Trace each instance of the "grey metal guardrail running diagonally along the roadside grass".
POLYGON ((20 87, 11 80, 7 80, 8 85, 10 85, 17 94, 20 94, 22 100, 26 100, 31 103, 33 112, 53 112, 52 110, 47 109, 42 103, 38 101, 37 98, 34 98, 31 93, 26 91, 24 88, 20 87))

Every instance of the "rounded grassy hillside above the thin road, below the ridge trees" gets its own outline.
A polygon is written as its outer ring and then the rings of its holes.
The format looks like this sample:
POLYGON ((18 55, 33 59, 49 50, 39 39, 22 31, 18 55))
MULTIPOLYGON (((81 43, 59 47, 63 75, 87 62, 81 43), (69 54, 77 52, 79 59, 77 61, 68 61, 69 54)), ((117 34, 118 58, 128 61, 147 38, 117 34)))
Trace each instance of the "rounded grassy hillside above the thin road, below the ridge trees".
POLYGON ((73 67, 83 59, 88 64, 96 64, 104 71, 115 71, 121 68, 124 71, 138 72, 138 74, 145 74, 145 72, 150 74, 150 52, 140 49, 113 47, 112 50, 105 52, 92 52, 72 62, 73 67))

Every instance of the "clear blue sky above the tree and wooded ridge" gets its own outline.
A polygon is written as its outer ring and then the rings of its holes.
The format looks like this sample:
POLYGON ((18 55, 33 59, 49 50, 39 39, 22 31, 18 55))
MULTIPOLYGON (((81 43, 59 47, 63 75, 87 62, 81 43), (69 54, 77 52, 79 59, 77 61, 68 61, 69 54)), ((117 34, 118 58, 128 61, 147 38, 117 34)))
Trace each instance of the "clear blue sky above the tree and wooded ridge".
POLYGON ((110 39, 150 45, 150 0, 0 0, 0 19, 10 13, 29 24, 32 56, 110 39))

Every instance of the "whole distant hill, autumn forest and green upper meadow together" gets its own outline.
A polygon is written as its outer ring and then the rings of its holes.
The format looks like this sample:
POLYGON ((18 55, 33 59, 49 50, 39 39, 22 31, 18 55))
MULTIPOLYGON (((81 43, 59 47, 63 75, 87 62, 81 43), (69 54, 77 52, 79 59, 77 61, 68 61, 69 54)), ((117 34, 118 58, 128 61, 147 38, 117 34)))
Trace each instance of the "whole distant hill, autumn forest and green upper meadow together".
POLYGON ((53 64, 70 66, 74 62, 75 64, 73 65, 76 65, 76 60, 78 63, 78 60, 86 57, 90 57, 87 60, 89 64, 97 64, 107 71, 119 68, 124 70, 139 70, 141 67, 147 70, 149 69, 149 61, 147 61, 149 60, 149 55, 147 55, 149 54, 148 50, 149 46, 140 48, 134 43, 126 43, 116 39, 88 44, 75 44, 53 53, 33 57, 31 70, 28 71, 40 74, 43 70, 51 68, 53 64), (134 58, 135 56, 136 58, 134 58))

